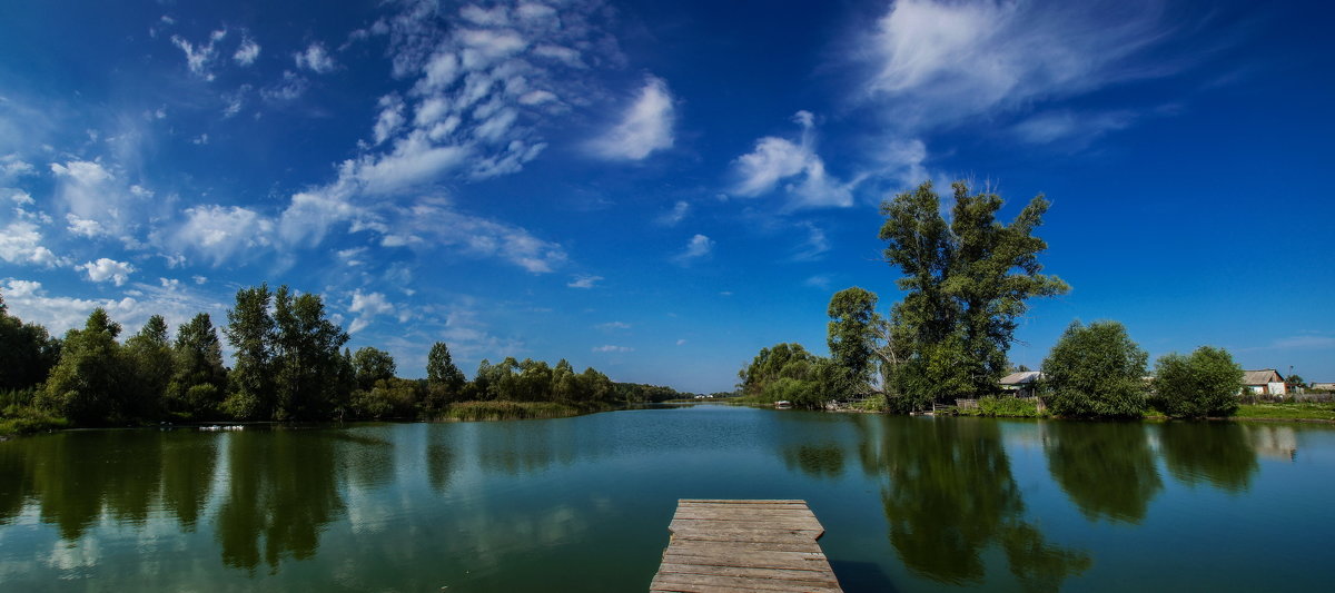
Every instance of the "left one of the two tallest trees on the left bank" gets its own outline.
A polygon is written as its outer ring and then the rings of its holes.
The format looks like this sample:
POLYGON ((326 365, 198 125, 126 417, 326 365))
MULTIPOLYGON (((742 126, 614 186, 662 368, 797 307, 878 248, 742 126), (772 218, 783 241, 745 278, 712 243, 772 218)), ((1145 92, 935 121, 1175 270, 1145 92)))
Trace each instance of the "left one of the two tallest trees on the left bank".
POLYGON ((235 366, 228 377, 226 411, 243 419, 274 418, 274 317, 267 283, 236 291, 223 333, 232 345, 235 366))

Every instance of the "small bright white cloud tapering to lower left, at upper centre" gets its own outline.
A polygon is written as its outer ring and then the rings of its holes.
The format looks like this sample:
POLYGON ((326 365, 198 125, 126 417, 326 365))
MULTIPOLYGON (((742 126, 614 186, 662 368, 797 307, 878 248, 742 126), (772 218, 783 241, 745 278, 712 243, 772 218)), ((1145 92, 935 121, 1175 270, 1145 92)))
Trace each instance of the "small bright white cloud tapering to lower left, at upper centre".
POLYGON ((593 152, 610 160, 641 160, 673 146, 673 97, 668 83, 650 76, 621 122, 594 139, 593 152))

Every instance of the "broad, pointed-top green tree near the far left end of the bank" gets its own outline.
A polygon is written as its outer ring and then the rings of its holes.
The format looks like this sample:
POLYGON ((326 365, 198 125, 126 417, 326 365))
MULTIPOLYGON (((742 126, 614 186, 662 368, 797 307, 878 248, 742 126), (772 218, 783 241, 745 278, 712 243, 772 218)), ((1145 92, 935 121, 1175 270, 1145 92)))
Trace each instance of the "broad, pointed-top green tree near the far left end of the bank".
POLYGON ((117 335, 120 323, 101 307, 88 315, 83 330, 69 330, 37 405, 77 425, 124 421, 127 365, 117 335))

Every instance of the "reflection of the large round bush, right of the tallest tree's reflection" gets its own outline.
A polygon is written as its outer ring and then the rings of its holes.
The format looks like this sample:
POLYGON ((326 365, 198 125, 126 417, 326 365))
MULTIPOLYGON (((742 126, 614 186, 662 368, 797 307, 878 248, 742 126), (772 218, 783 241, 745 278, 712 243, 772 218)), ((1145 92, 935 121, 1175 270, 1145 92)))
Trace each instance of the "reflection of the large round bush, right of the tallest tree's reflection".
POLYGON ((1043 425, 1048 471, 1088 520, 1137 524, 1163 489, 1145 426, 1136 422, 1043 425))

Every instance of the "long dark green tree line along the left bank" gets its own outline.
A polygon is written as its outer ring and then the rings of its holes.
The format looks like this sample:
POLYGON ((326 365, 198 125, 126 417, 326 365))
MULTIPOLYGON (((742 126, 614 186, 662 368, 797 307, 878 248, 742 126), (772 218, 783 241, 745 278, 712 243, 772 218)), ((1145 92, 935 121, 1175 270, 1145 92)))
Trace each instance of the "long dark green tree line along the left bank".
POLYGON ((0 418, 47 414, 77 426, 162 421, 330 421, 435 418, 465 401, 609 406, 681 397, 669 387, 615 383, 565 359, 483 359, 473 381, 443 342, 425 379, 396 377, 390 353, 351 351, 316 294, 268 284, 242 288, 215 327, 207 313, 175 339, 162 315, 120 342, 121 326, 95 309, 63 338, 9 315, 0 298, 0 418), (219 330, 222 337, 219 335, 219 330), (224 365, 223 342, 234 363, 224 365))

